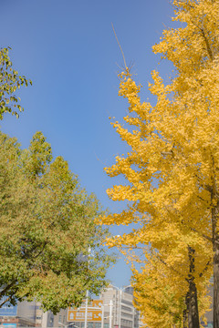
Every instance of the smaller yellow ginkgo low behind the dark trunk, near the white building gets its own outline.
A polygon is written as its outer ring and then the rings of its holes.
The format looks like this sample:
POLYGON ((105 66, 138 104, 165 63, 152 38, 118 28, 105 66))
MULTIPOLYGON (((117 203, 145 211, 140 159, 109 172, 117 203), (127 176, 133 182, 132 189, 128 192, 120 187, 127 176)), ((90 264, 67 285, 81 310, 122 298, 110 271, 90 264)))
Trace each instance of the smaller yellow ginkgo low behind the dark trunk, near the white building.
MULTIPOLYGON (((153 252, 147 256, 147 260, 148 263, 141 272, 133 270, 132 277, 134 302, 141 312, 142 322, 151 328, 195 326, 191 315, 194 297, 193 302, 190 302, 190 291, 186 295, 183 292, 191 281, 190 277, 183 280, 183 276, 175 267, 169 268, 167 263, 160 261, 161 259, 153 252)), ((209 307, 209 301, 205 289, 200 289, 199 286, 199 315, 203 321, 203 314, 209 307)))

